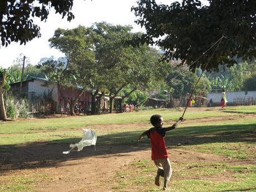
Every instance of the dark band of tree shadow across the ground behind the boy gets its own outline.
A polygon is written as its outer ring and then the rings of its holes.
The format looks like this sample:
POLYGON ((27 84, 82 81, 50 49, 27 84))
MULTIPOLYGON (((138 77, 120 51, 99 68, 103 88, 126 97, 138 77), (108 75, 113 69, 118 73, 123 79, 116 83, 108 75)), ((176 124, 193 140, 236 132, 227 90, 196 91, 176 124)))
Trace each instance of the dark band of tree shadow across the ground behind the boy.
MULTIPOLYGON (((256 142, 256 124, 249 125, 218 125, 181 127, 166 133, 166 145, 208 144, 215 142, 256 142)), ((131 127, 132 128, 132 127, 131 127)), ((119 132, 97 137, 96 151, 94 146, 83 148, 82 151, 69 150, 69 144, 75 144, 81 138, 66 138, 50 142, 33 142, 22 145, 0 146, 0 173, 7 170, 32 169, 38 167, 60 166, 67 160, 86 157, 124 157, 126 152, 150 149, 150 141, 144 138, 137 142, 141 131, 119 132)))

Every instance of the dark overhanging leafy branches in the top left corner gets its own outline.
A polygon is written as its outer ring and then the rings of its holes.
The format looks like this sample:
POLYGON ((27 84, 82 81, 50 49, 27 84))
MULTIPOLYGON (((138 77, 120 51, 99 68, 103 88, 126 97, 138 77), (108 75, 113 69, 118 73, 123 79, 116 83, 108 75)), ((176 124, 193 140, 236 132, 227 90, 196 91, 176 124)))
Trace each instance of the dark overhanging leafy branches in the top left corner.
POLYGON ((68 21, 74 18, 71 9, 73 0, 1 0, 0 1, 0 36, 1 46, 8 46, 11 42, 20 42, 21 45, 40 37, 40 27, 34 24, 33 17, 46 21, 50 8, 56 13, 67 17, 68 21))

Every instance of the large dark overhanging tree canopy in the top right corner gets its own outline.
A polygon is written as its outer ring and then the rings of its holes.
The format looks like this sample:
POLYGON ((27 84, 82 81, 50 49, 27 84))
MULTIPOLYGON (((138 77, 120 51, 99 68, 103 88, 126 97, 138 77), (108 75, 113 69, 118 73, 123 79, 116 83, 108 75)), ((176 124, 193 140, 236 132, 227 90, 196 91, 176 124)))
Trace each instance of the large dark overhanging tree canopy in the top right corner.
POLYGON ((182 64, 193 64, 190 66, 192 71, 206 65, 207 71, 218 71, 219 64, 234 65, 236 57, 243 60, 255 57, 256 1, 208 2, 208 6, 202 6, 199 0, 165 5, 157 4, 155 0, 138 0, 137 7, 132 10, 139 17, 136 23, 145 27, 146 34, 134 38, 135 43, 147 42, 163 47, 164 60, 175 58, 182 64), (206 52, 221 37, 224 37, 222 41, 206 52))

